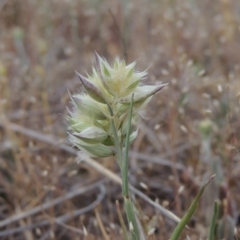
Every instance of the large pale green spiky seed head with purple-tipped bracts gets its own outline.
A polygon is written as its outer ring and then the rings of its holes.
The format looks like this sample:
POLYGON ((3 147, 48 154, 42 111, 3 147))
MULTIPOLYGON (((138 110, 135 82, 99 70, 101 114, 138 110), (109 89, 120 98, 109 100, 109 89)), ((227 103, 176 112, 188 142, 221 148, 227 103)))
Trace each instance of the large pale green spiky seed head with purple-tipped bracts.
POLYGON ((128 126, 129 106, 133 97, 133 116, 130 141, 137 136, 140 111, 151 97, 167 84, 147 85, 147 72, 135 70, 136 62, 126 65, 116 58, 113 65, 96 54, 96 66, 87 77, 76 74, 85 92, 71 96, 73 110, 67 117, 70 141, 90 157, 115 154, 113 120, 121 146, 128 126))

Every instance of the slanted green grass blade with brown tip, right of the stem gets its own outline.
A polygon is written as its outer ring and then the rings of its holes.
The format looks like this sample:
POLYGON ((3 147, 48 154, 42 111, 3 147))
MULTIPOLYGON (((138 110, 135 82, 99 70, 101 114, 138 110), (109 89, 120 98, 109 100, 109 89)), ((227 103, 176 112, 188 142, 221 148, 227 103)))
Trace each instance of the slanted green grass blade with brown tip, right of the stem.
POLYGON ((183 229, 185 228, 185 226, 187 225, 188 221, 190 220, 190 218, 192 217, 193 213, 195 212, 198 203, 200 201, 200 198, 206 188, 206 186, 208 185, 208 183, 215 177, 215 175, 211 176, 211 178, 207 181, 207 183, 205 183, 199 190, 197 196, 194 198, 192 204, 190 205, 187 213, 184 215, 184 217, 182 218, 181 222, 177 225, 177 227, 175 228, 170 240, 177 240, 180 237, 180 234, 182 233, 183 229))

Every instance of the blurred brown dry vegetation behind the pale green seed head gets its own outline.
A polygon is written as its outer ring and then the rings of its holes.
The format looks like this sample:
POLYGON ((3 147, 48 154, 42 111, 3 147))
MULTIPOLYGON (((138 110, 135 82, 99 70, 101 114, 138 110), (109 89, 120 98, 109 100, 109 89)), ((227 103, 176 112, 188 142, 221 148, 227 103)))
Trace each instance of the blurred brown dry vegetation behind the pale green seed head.
MULTIPOLYGON (((182 217, 216 173, 183 239, 206 239, 215 199, 238 231, 239 0, 9 0, 0 8, 0 239, 123 239, 121 189, 100 168, 118 174, 115 161, 79 163, 67 147, 67 89, 80 91, 74 71, 90 71, 94 51, 137 59, 149 82, 169 83, 132 145, 132 185, 182 217), (206 119, 208 140, 198 127, 206 119)), ((176 223, 135 197, 143 225, 157 228, 148 239, 168 239, 176 223)))

